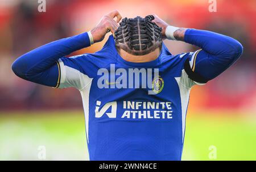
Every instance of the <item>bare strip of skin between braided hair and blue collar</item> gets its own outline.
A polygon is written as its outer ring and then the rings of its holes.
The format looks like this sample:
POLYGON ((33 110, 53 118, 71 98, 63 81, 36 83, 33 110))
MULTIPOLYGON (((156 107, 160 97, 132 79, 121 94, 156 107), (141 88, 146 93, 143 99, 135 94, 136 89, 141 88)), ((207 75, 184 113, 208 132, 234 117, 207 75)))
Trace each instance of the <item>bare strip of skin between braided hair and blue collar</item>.
POLYGON ((156 58, 158 58, 159 54, 160 54, 159 49, 156 49, 146 55, 132 55, 122 49, 119 50, 119 55, 123 59, 125 59, 125 61, 133 62, 133 63, 146 63, 146 62, 154 61, 156 58))

